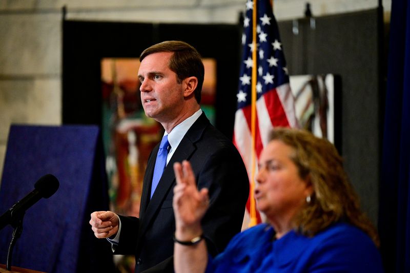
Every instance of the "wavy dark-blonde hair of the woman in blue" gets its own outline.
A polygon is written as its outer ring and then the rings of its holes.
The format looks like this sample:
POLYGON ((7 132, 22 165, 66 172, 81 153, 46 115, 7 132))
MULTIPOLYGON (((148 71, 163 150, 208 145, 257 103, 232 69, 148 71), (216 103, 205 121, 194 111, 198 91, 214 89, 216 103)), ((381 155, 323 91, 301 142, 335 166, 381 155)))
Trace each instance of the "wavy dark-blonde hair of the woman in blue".
POLYGON ((294 218, 300 233, 314 236, 343 220, 363 230, 379 246, 377 231, 361 211, 343 160, 331 142, 308 131, 285 128, 273 130, 270 140, 280 140, 293 148, 291 160, 298 167, 299 176, 313 186, 311 201, 294 218))

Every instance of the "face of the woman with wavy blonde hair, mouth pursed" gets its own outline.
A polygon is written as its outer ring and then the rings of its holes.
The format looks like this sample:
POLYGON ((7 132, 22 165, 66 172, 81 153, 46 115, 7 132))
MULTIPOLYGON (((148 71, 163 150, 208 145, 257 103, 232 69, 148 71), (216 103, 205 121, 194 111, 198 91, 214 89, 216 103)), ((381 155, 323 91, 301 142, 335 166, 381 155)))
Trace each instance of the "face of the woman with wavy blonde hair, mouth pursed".
POLYGON ((261 153, 255 199, 268 219, 291 219, 312 194, 311 184, 299 177, 292 152, 291 146, 273 140, 261 153))

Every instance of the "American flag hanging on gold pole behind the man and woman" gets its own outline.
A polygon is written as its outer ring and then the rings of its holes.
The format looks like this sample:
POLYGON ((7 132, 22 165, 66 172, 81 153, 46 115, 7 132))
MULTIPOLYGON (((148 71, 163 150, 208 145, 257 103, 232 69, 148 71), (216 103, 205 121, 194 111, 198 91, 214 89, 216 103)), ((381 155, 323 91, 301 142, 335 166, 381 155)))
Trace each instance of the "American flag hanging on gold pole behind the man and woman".
POLYGON ((251 225, 260 222, 259 213, 254 208, 254 170, 263 146, 268 143, 269 132, 275 127, 298 127, 294 97, 289 86, 288 70, 272 5, 270 0, 256 1, 254 13, 254 2, 248 0, 243 20, 243 62, 236 95, 238 108, 235 114, 233 140, 247 167, 249 181, 251 181, 251 193, 244 220, 244 224, 251 221, 251 225), (253 14, 256 14, 255 29, 253 14), (256 47, 253 43, 253 31, 256 31, 256 47), (253 59, 254 50, 256 50, 256 60, 253 59), (254 81, 252 69, 256 69, 254 81), (251 126, 253 82, 256 90, 254 133, 251 126), (249 216, 251 218, 247 220, 249 216))

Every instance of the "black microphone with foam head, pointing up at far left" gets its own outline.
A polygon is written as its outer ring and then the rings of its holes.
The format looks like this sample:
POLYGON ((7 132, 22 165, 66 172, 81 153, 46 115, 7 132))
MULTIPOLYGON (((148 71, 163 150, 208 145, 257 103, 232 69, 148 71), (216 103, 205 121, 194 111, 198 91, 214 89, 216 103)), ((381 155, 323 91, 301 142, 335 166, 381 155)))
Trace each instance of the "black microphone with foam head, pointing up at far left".
POLYGON ((0 230, 8 224, 13 225, 15 221, 18 221, 18 217, 23 217, 26 210, 38 200, 52 196, 59 186, 60 183, 55 176, 51 174, 42 176, 35 182, 34 190, 31 193, 15 203, 7 212, 0 216, 0 230))

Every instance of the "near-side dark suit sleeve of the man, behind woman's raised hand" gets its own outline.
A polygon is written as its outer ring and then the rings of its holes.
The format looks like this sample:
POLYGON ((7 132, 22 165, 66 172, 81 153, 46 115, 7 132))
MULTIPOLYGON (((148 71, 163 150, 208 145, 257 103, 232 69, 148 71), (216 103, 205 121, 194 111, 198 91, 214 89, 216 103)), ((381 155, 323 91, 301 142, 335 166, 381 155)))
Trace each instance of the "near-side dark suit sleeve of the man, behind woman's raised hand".
POLYGON ((233 145, 214 151, 201 164, 201 171, 196 173, 198 188, 208 188, 210 197, 202 228, 208 251, 215 256, 241 231, 249 180, 242 158, 233 145))

